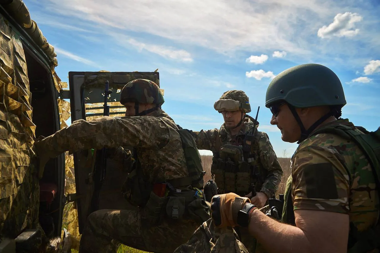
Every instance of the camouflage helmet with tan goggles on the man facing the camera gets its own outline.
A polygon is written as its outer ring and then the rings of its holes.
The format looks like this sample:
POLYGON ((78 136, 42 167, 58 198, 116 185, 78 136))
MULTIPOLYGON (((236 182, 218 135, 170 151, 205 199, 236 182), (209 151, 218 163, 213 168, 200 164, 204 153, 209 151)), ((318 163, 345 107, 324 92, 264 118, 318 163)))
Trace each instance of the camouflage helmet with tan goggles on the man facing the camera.
MULTIPOLYGON (((225 104, 229 104, 229 102, 236 101, 236 110, 241 110, 242 112, 248 113, 251 111, 251 106, 249 104, 249 98, 247 94, 245 94, 242 90, 228 90, 219 98, 218 101, 214 104, 214 109, 221 112, 225 104)), ((231 104, 231 103, 230 103, 231 104)), ((234 107, 234 105, 233 105, 234 107)), ((226 110, 231 111, 231 110, 226 110)))

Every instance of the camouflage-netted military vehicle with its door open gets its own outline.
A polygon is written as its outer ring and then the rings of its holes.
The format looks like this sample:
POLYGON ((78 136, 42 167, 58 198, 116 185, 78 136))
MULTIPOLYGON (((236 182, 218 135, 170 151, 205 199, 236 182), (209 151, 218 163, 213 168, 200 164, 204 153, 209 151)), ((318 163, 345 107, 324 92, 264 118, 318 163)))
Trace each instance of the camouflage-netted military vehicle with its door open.
POLYGON ((34 139, 66 127, 70 116, 72 121, 101 117, 105 81, 112 91, 106 97, 110 115, 123 116, 125 109, 118 103, 123 85, 137 78, 159 85, 159 73, 70 72, 67 90, 55 73, 54 47, 22 0, 0 0, 0 32, 0 252, 69 252, 72 245, 61 240, 64 218, 71 215, 63 238, 68 230, 78 242, 74 230, 79 222, 81 232, 94 208, 127 205, 121 193, 126 174, 112 169, 116 165, 107 159, 106 177, 94 194, 96 150, 67 152, 40 170, 34 139))

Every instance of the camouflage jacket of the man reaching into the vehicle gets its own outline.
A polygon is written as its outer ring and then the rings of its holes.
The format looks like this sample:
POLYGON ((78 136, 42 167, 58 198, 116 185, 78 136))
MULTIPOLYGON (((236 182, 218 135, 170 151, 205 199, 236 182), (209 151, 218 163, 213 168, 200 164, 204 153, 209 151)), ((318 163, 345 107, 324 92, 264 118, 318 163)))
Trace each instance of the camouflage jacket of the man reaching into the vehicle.
POLYGON ((49 150, 59 154, 66 150, 135 147, 147 182, 187 177, 180 135, 168 121, 174 124, 163 110, 149 116, 103 116, 89 121, 76 120, 40 141, 38 151, 49 150))

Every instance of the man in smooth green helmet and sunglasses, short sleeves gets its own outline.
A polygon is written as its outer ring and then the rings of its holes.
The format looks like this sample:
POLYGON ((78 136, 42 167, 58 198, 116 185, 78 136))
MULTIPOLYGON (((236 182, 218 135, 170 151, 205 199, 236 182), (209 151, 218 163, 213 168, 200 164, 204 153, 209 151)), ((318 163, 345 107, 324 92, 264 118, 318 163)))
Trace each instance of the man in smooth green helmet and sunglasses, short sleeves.
POLYGON ((276 76, 266 93, 271 124, 283 141, 299 144, 282 223, 228 193, 212 199, 215 226, 247 227, 269 252, 379 252, 380 128, 369 133, 341 119, 345 104, 339 78, 325 66, 276 76))

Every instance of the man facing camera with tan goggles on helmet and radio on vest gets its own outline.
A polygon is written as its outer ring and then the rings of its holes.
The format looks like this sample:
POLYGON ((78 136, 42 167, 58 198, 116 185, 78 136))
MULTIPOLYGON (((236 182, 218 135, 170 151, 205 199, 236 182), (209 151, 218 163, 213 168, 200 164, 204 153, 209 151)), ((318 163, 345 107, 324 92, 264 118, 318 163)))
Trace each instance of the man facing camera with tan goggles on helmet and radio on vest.
POLYGON ((268 198, 275 197, 283 174, 268 135, 252 131, 258 123, 255 125, 254 119, 247 115, 251 106, 243 91, 223 93, 214 108, 223 115, 224 124, 220 129, 193 131, 193 136, 198 149, 211 150, 214 154, 211 174, 215 177, 218 193, 247 195, 256 206, 263 207, 268 198), (255 136, 250 151, 244 152, 242 144, 250 131, 255 136), (257 192, 253 197, 251 184, 257 192))

